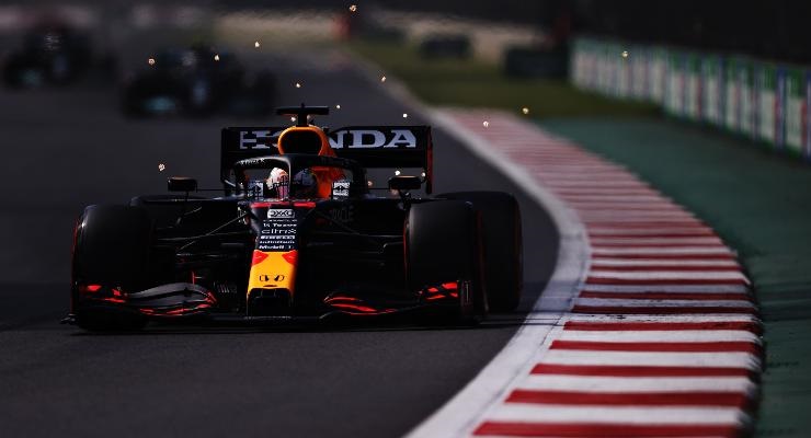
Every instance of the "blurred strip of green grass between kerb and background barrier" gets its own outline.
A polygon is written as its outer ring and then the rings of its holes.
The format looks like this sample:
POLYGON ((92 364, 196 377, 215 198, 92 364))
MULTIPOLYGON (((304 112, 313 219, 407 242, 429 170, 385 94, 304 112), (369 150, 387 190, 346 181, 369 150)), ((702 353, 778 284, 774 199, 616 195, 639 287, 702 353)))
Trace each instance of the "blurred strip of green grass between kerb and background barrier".
POLYGON ((584 93, 564 80, 511 79, 501 66, 476 59, 423 59, 415 47, 354 41, 350 49, 374 61, 384 70, 406 82, 420 100, 432 105, 502 108, 529 116, 639 116, 656 114, 654 105, 618 102, 584 93))

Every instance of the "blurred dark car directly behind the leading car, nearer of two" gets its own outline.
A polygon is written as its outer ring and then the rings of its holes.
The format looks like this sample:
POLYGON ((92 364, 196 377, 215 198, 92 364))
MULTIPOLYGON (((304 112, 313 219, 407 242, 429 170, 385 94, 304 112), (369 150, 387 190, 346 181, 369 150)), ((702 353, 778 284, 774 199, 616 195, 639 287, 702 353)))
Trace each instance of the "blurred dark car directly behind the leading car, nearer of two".
POLYGON ((208 46, 170 48, 124 81, 122 108, 129 116, 214 113, 265 115, 274 108, 272 72, 249 73, 230 53, 208 46))

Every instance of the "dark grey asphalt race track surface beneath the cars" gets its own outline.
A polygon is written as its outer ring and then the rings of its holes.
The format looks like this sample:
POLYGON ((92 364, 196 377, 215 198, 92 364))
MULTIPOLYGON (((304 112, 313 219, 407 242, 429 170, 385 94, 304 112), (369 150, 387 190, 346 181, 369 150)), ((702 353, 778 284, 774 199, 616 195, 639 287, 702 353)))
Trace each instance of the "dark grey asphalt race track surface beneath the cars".
MULTIPOLYGON (((319 124, 425 123, 346 57, 263 56, 278 71, 279 104, 341 105, 319 124)), ((0 435, 400 436, 510 339, 521 313, 466 330, 150 326, 92 335, 59 325, 82 207, 163 193, 174 174, 217 187, 220 127, 256 122, 128 120, 114 87, 0 91, 0 435)), ((550 219, 447 135, 436 131, 434 141, 437 193, 518 196, 527 309, 555 265, 550 219)))

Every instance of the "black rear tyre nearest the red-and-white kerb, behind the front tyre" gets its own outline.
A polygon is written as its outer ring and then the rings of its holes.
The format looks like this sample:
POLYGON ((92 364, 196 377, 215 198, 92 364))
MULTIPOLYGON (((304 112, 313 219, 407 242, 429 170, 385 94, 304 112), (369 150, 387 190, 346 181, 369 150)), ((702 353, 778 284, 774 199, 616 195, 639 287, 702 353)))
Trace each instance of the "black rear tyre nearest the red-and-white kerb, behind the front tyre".
POLYGON ((524 287, 521 209, 515 197, 503 192, 456 192, 437 197, 469 201, 479 211, 490 310, 515 310, 524 287))

